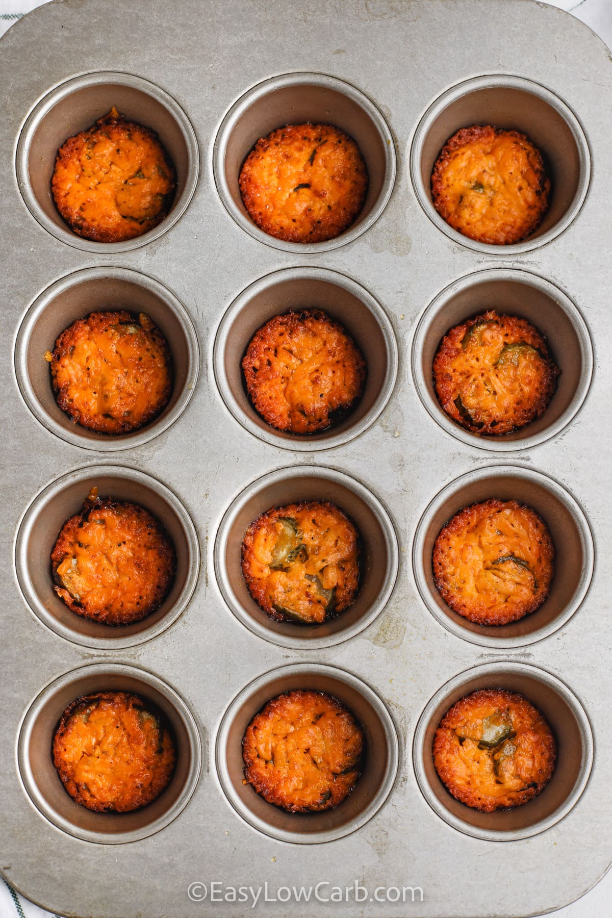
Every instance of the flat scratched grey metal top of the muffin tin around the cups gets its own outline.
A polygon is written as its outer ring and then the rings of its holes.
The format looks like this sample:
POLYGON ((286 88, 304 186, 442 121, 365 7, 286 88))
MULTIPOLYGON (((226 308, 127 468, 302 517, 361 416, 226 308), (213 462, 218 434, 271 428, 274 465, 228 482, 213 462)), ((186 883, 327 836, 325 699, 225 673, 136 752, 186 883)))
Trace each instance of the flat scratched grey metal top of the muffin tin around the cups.
MULTIPOLYGON (((311 0, 300 6, 247 0, 205 6, 188 0, 180 16, 161 0, 149 0, 144 12, 143 6, 119 0, 65 0, 17 24, 3 39, 2 52, 4 341, 14 340, 29 304, 54 280, 94 264, 119 264, 152 275, 182 299, 195 321, 205 364, 178 423, 117 459, 159 477, 184 501, 204 556, 198 587, 188 609, 161 637, 114 654, 92 654, 50 633, 18 592, 8 559, 23 510, 39 487, 100 457, 45 431, 19 397, 11 361, 2 364, 10 433, 3 440, 10 499, 2 523, 0 647, 6 687, 0 868, 6 878, 54 911, 96 918, 206 913, 206 906, 186 896, 195 879, 235 885, 267 880, 273 886, 319 879, 340 886, 354 879, 372 887, 409 883, 425 890, 425 902, 406 906, 406 913, 449 918, 529 915, 575 899, 612 858, 604 805, 612 752, 605 654, 612 501, 600 433, 612 395, 606 361, 611 71, 605 46, 572 17, 530 0, 311 0), (15 146, 29 109, 55 84, 92 69, 128 70, 160 84, 184 107, 201 144, 202 174, 184 217, 157 241, 125 254, 93 255, 55 240, 30 217, 17 189, 15 146), (228 107, 250 85, 302 69, 348 80, 373 98, 393 130, 399 170, 391 201, 372 229, 349 246, 300 259, 251 239, 228 217, 212 178, 211 146, 228 107), (406 169, 412 132, 429 103, 451 84, 481 73, 519 73, 549 86, 580 118, 592 152, 592 183, 579 217, 561 237, 519 259, 498 252, 483 256, 441 234, 418 206, 406 169), (392 319, 400 349, 398 383, 382 417, 359 439, 326 453, 294 454, 250 436, 225 409, 211 373, 214 332, 233 298, 262 274, 300 263, 348 274, 373 292, 392 319), (427 700, 446 679, 474 663, 495 660, 496 654, 440 627, 417 596, 408 560, 418 518, 440 487, 498 462, 450 438, 428 418, 410 376, 412 330, 453 278, 499 264, 526 267, 562 287, 581 308, 594 338, 595 382, 581 413, 560 436, 529 453, 514 453, 511 461, 547 472, 572 491, 594 529, 599 557, 591 591, 572 621, 562 632, 511 654, 549 669, 583 701, 595 732, 591 780, 561 823, 501 846, 442 823, 412 775, 412 736, 427 700), (221 599, 212 565, 217 525, 231 499, 253 478, 292 463, 330 465, 362 480, 391 509, 402 552, 395 592, 379 619, 333 650, 307 654, 264 642, 241 626, 221 599), (18 724, 31 700, 54 677, 100 658, 134 663, 167 680, 195 711, 204 742, 206 766, 187 808, 160 834, 128 845, 91 845, 61 833, 29 803, 15 767, 18 724), (358 832, 307 849, 275 842, 242 823, 219 789, 212 757, 228 701, 251 678, 299 660, 332 663, 369 682, 395 716, 403 753, 383 810, 358 832), (511 901, 495 896, 495 877, 502 874, 516 879, 511 901)), ((331 903, 300 908, 320 916, 339 911, 331 903)), ((400 913, 392 904, 345 909, 372 918, 400 913)), ((266 911, 288 913, 280 903, 266 911)), ((240 913, 236 905, 217 905, 214 912, 240 913)))

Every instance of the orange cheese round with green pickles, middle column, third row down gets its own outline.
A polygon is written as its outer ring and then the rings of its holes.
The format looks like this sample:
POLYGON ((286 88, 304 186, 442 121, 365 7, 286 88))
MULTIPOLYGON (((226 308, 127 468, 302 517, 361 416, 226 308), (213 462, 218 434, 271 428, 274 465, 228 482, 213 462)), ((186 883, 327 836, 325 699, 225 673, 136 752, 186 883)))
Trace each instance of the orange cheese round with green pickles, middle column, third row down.
POLYGON ((355 598, 359 538, 328 500, 268 510, 250 524, 242 542, 250 595, 275 621, 322 624, 355 598))

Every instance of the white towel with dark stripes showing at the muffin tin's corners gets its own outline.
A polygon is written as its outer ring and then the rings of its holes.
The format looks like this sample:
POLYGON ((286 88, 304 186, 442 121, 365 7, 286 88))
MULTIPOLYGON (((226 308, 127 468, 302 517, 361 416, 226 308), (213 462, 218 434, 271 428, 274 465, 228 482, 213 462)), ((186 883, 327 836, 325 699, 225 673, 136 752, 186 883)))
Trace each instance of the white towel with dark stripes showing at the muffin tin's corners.
MULTIPOLYGON (((90 2, 95 3, 95 0, 90 0, 90 2)), ((141 0, 141 2, 146 2, 146 0, 141 0)), ((551 6, 559 6, 572 13, 573 16, 582 19, 606 41, 609 48, 612 48, 612 0, 548 0, 548 2, 551 3, 551 6)), ((42 6, 40 0, 0 0, 0 35, 14 25, 18 18, 29 13, 36 6, 42 6)), ((2 46, 0 45, 1 53, 2 46)), ((83 845, 86 844, 83 842, 83 845)), ((612 902, 612 871, 582 899, 553 914, 554 918, 606 918, 607 915, 612 914, 610 902, 612 902)), ((61 918, 61 916, 54 916, 50 912, 39 909, 37 905, 28 902, 23 896, 17 895, 6 881, 0 879, 0 918, 61 918)), ((116 918, 121 918, 121 916, 117 915, 116 918)))

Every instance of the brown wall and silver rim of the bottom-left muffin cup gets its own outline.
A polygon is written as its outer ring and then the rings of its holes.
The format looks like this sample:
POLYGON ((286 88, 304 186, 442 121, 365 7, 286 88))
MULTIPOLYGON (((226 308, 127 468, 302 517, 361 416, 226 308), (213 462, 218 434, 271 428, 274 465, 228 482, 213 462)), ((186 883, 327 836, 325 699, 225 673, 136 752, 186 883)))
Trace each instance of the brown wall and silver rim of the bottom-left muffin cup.
POLYGON ((36 698, 17 740, 17 768, 29 799, 63 832, 85 842, 121 845, 160 832, 184 810, 202 764, 200 736, 181 696, 160 678, 135 666, 95 663, 55 679, 36 698), (99 691, 134 692, 165 714, 176 748, 170 784, 156 800, 132 812, 93 812, 75 803, 53 765, 51 746, 63 711, 82 695, 99 691))

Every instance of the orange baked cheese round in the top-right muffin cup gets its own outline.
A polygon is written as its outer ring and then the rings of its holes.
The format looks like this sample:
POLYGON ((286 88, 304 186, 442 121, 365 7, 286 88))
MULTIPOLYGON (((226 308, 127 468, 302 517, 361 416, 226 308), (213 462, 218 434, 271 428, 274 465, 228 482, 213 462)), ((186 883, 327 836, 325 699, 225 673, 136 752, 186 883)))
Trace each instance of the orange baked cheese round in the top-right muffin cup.
POLYGON ((440 217, 464 236, 494 245, 538 229, 551 181, 537 147, 517 130, 462 128, 446 141, 431 174, 440 217))

